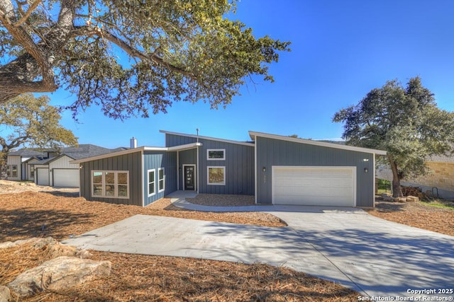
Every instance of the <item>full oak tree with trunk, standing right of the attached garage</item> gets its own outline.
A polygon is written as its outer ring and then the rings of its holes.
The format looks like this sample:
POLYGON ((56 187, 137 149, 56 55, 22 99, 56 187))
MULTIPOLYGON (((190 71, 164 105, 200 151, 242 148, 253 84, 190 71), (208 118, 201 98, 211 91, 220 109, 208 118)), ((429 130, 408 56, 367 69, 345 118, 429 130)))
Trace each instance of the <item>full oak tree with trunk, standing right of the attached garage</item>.
POLYGON ((333 121, 344 123, 347 144, 387 151, 394 197, 402 196, 402 179, 428 172, 430 156, 453 152, 454 113, 437 107, 419 77, 405 87, 394 80, 372 89, 333 121))

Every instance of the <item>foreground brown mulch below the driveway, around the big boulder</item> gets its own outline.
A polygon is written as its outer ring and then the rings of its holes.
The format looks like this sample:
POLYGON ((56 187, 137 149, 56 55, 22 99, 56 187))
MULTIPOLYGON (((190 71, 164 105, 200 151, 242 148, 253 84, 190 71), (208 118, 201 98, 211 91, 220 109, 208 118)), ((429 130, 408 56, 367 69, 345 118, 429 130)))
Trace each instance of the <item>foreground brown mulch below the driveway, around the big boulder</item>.
MULTIPOLYGON (((0 249, 0 284, 49 260, 30 245, 0 249)), ((359 294, 333 282, 265 264, 129 255, 92 251, 109 260, 109 277, 65 294, 49 292, 21 301, 356 301, 359 294)))

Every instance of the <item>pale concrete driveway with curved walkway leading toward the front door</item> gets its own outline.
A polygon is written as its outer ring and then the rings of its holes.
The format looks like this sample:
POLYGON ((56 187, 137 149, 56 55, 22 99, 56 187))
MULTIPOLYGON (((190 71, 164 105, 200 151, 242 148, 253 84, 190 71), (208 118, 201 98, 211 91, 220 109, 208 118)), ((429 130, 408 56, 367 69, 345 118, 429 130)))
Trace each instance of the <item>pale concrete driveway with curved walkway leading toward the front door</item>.
MULTIPOLYGON (((184 201, 177 205, 213 210, 184 201)), ((364 296, 452 301, 452 293, 441 295, 438 290, 454 288, 454 237, 378 219, 353 208, 235 209, 266 211, 289 226, 269 228, 137 215, 63 243, 111 252, 265 262, 335 281, 364 296), (422 296, 415 294, 421 290, 426 290, 422 296), (435 290, 435 294, 428 294, 428 290, 435 290)))

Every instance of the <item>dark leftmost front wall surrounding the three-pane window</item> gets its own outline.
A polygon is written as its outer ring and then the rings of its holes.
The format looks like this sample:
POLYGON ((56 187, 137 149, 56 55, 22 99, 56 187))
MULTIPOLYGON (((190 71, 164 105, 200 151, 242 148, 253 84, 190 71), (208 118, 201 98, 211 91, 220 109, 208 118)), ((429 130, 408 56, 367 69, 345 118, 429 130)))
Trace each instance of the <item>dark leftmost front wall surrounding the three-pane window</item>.
POLYGON ((143 205, 142 153, 140 151, 80 163, 80 195, 87 200, 109 202, 111 204, 143 205), (129 171, 129 198, 92 197, 93 170, 129 171))

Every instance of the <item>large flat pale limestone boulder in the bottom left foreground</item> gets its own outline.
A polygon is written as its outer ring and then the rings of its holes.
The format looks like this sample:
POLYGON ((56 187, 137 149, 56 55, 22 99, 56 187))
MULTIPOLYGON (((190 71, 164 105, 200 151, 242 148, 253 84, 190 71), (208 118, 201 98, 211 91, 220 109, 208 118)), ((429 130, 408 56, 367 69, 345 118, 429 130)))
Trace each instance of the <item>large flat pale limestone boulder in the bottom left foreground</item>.
POLYGON ((111 273, 110 261, 82 260, 61 256, 28 269, 18 275, 8 286, 17 296, 24 298, 42 291, 59 293, 96 277, 111 273))

